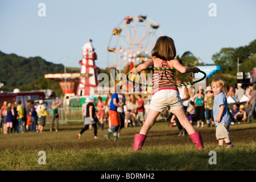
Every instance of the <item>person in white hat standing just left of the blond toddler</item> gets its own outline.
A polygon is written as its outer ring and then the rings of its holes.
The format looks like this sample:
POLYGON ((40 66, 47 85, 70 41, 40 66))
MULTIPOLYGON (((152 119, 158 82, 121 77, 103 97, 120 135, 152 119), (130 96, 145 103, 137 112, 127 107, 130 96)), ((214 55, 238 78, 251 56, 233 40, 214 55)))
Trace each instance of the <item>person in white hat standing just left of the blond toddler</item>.
POLYGON ((212 88, 210 86, 207 86, 207 89, 205 90, 207 92, 204 102, 205 102, 205 113, 206 113, 206 123, 210 127, 214 126, 214 119, 213 119, 213 102, 214 102, 214 95, 212 88))

